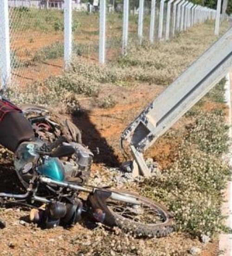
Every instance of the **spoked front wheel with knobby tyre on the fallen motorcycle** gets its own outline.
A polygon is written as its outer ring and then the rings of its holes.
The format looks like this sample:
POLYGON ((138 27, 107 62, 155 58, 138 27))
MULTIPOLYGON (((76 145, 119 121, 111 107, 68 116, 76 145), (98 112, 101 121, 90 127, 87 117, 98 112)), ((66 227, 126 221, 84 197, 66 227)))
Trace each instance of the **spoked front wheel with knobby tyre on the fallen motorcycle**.
POLYGON ((173 215, 161 204, 129 191, 108 191, 111 195, 102 201, 106 225, 143 237, 162 237, 173 231, 173 215))

